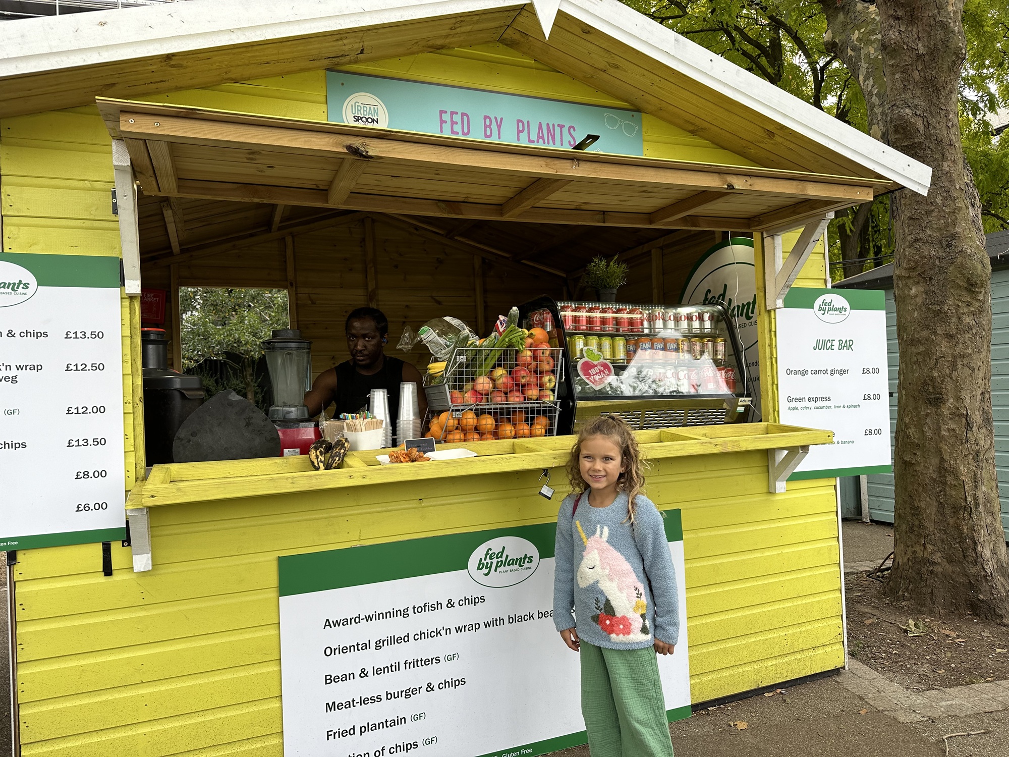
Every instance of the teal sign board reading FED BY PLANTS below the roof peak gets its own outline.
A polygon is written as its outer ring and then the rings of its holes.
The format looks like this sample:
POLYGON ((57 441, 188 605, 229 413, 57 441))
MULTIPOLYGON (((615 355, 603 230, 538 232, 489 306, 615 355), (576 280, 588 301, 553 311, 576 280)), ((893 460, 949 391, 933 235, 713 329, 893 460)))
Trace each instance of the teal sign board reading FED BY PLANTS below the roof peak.
POLYGON ((326 72, 329 120, 513 144, 644 154, 641 113, 466 87, 326 72))

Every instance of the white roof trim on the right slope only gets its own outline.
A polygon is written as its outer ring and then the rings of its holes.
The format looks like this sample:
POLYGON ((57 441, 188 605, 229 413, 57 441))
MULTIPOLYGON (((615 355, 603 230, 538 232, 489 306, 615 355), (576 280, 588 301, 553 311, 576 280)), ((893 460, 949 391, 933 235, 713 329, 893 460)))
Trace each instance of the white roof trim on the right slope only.
POLYGON ((932 176, 929 167, 652 21, 619 0, 562 0, 561 10, 880 176, 919 195, 928 194, 932 176))

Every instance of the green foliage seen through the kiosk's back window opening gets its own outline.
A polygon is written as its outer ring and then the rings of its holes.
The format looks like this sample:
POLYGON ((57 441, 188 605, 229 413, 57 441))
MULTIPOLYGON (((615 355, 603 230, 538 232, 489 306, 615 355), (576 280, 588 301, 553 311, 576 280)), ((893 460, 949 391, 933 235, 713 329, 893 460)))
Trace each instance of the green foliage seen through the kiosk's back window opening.
POLYGON ((208 396, 234 390, 263 405, 255 380, 259 343, 273 329, 288 328, 288 293, 269 289, 182 287, 183 369, 204 381, 208 396), (220 360, 223 370, 196 370, 204 360, 220 360))

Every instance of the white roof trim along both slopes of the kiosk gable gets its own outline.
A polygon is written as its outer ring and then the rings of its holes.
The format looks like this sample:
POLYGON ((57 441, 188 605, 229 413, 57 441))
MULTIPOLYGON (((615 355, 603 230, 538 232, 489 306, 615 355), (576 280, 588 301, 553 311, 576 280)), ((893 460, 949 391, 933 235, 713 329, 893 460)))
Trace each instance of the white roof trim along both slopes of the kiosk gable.
MULTIPOLYGON (((523 0, 192 0, 0 23, 0 78, 312 35, 523 0), (334 6, 340 8, 334 12, 334 6)), ((557 9, 742 105, 924 195, 931 169, 656 23, 619 0, 533 0, 544 35, 557 9)))

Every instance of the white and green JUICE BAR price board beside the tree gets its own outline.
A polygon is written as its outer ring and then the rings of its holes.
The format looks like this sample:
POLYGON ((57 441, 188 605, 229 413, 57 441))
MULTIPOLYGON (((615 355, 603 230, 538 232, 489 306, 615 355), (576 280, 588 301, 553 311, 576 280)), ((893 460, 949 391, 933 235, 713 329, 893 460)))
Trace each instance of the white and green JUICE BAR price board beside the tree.
POLYGON ((890 472, 883 293, 793 287, 777 321, 781 422, 834 434, 790 480, 890 472))

